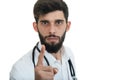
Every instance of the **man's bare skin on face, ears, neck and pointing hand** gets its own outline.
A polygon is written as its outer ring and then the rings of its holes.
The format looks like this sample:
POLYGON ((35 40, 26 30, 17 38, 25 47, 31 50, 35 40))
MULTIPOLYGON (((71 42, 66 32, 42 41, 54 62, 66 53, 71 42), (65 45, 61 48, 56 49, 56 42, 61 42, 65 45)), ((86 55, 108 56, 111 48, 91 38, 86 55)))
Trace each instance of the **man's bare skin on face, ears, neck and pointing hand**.
MULTIPOLYGON (((70 29, 70 24, 69 21, 66 23, 63 12, 57 10, 40 16, 38 23, 33 22, 33 27, 36 32, 40 32, 44 37, 53 34, 61 37, 65 31, 70 29)), ((57 44, 59 38, 47 37, 45 41, 49 44, 57 44)), ((44 54, 45 46, 42 45, 38 63, 35 67, 35 80, 53 80, 55 74, 58 72, 56 68, 43 65, 44 54)), ((57 60, 61 60, 60 50, 57 53, 52 53, 52 55, 57 60)))

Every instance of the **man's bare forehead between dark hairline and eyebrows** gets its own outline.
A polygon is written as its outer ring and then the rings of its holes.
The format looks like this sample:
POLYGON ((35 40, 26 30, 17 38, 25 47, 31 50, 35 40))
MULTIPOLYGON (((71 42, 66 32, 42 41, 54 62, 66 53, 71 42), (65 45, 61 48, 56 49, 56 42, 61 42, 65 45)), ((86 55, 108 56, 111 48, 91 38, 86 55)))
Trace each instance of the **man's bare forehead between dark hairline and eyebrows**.
POLYGON ((57 19, 65 20, 65 17, 62 11, 53 11, 48 14, 41 15, 39 17, 39 20, 55 21, 57 19))

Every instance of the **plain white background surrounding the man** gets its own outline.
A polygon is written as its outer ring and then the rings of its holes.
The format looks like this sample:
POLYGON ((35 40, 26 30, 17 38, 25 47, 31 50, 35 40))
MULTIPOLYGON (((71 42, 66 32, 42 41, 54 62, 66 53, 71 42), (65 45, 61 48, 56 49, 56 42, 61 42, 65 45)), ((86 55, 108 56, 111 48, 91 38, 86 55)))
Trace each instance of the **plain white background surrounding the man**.
MULTIPOLYGON (((0 0, 0 80, 39 40, 32 27, 36 0, 0 0)), ((78 80, 120 80, 119 0, 65 0, 78 80)), ((24 65, 23 65, 24 66, 24 65)))

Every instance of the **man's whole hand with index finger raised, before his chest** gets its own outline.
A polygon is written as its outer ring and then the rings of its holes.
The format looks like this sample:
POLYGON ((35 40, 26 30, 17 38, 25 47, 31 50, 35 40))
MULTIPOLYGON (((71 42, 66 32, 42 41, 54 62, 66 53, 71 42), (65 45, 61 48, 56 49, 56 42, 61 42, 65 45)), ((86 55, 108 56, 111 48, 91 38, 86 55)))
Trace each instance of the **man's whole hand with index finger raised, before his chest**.
POLYGON ((45 46, 42 45, 40 55, 38 57, 38 63, 35 67, 35 80, 53 80, 57 69, 51 66, 44 66, 45 46))

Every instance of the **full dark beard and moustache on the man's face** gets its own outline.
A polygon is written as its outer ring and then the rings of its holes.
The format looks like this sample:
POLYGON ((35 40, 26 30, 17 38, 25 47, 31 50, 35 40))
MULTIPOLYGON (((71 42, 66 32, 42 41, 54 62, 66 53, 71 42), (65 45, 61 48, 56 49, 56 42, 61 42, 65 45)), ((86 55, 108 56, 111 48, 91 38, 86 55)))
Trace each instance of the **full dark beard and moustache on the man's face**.
POLYGON ((60 50, 60 48, 62 47, 62 44, 63 44, 64 39, 65 39, 66 31, 63 33, 63 35, 61 37, 56 36, 56 35, 49 35, 49 36, 43 37, 40 32, 38 32, 38 34, 39 34, 41 44, 45 45, 47 52, 57 53, 60 50), (59 38, 59 42, 58 43, 53 43, 53 42, 47 43, 46 38, 48 38, 48 37, 57 37, 57 38, 59 38))

